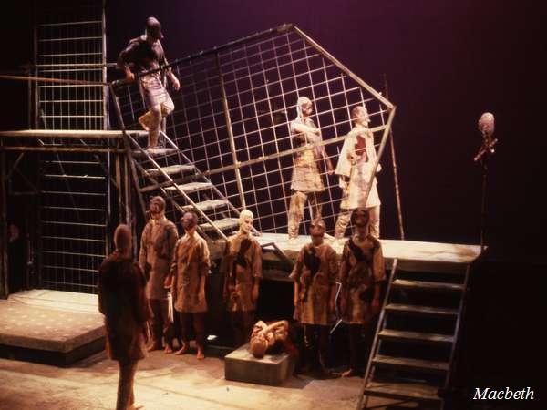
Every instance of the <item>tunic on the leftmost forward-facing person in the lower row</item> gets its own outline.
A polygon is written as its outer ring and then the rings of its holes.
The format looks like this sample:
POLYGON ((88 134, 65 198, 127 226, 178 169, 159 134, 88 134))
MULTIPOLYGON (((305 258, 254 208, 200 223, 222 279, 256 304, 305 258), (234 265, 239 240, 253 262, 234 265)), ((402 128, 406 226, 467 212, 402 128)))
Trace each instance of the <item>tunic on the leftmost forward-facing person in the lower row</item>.
POLYGON ((149 299, 167 299, 164 287, 170 272, 173 249, 179 233, 175 224, 163 217, 150 219, 140 238, 139 267, 148 278, 146 295, 149 299))

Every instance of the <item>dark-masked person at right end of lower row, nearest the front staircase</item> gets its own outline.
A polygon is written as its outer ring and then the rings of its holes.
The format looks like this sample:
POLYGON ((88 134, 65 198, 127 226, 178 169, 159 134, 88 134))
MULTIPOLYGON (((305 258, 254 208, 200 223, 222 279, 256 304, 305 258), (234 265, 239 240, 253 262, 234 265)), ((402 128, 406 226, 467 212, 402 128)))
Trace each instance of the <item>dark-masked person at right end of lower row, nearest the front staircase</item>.
POLYGON ((349 370, 343 376, 362 374, 359 358, 361 335, 364 326, 380 312, 380 282, 386 280, 382 245, 369 233, 369 215, 366 210, 354 210, 351 221, 356 234, 346 241, 342 251, 342 263, 338 281, 340 292, 340 313, 349 324, 349 370))

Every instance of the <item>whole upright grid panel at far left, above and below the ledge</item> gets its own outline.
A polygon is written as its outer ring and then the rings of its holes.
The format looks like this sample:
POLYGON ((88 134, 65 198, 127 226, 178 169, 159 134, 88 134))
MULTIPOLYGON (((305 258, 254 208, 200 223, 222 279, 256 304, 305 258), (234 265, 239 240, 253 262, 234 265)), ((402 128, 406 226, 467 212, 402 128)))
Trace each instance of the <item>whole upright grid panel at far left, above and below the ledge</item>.
MULTIPOLYGON (((36 128, 100 130, 107 125, 102 0, 36 2, 36 76, 98 84, 37 82, 36 128)), ((107 139, 54 138, 47 147, 108 149, 107 139)), ((96 292, 108 254, 108 153, 45 153, 40 161, 39 267, 47 289, 96 292)))

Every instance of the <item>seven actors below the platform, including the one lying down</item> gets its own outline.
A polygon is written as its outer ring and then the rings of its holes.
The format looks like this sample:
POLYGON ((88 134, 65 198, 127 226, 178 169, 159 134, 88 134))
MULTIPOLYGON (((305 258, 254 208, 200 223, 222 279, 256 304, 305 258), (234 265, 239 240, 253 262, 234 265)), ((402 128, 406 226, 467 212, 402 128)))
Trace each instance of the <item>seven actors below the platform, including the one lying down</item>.
MULTIPOLYGON (((290 278, 294 281, 294 319, 304 331, 301 357, 304 371, 328 376, 329 331, 338 311, 349 326, 350 365, 343 376, 359 372, 359 348, 364 327, 380 307, 385 280, 382 247, 369 232, 370 213, 354 210, 356 233, 344 245, 341 261, 325 241, 325 222, 310 225, 311 242, 298 254, 290 278), (339 285, 337 284, 339 283, 339 285), (336 293, 339 287, 338 306, 336 293)), ((226 241, 220 265, 223 298, 235 347, 249 343, 255 357, 286 346, 289 323, 255 323, 262 278, 262 249, 252 234, 253 213, 243 210, 239 231, 226 241)), ((119 406, 134 403, 137 363, 147 351, 185 354, 195 335, 197 358, 205 357, 207 298, 205 284, 211 261, 207 241, 196 231, 198 217, 181 218, 184 235, 165 216, 165 201, 150 200, 150 220, 142 231, 139 261, 132 259, 131 231, 119 225, 115 251, 98 275, 99 311, 105 315, 107 351, 119 362, 119 406), (175 350, 175 341, 178 343, 175 350)), ((288 343, 290 344, 290 343, 288 343)))

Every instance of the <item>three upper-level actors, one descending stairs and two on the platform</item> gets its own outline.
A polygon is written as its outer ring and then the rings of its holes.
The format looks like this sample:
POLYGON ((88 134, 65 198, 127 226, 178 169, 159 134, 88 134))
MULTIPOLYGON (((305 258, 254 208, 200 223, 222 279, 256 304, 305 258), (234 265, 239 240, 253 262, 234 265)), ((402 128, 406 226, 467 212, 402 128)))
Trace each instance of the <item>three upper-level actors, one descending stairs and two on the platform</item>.
MULTIPOLYGON (((131 82, 137 78, 140 93, 148 108, 139 118, 139 124, 149 132, 147 149, 151 149, 150 152, 158 147, 162 119, 174 109, 162 74, 165 73, 175 90, 181 87, 179 79, 169 67, 161 46, 162 38, 160 22, 150 16, 146 21, 145 34, 131 39, 118 58, 118 66, 124 71, 126 80, 131 82)), ((294 155, 288 210, 289 238, 298 236, 306 202, 309 203, 311 220, 321 219, 321 197, 325 192, 321 163, 325 164, 327 174, 335 173, 338 176, 339 186, 343 190, 335 237, 344 237, 351 211, 356 209, 369 211, 371 233, 379 237, 381 202, 374 174, 381 170, 381 165, 378 163, 377 169, 374 169, 377 152, 373 133, 368 128, 370 118, 366 108, 356 106, 351 110, 354 126, 344 141, 335 169, 325 152, 321 130, 312 119, 313 111, 313 102, 308 97, 299 97, 296 101, 297 116, 290 123, 293 146, 302 149, 294 155)))

